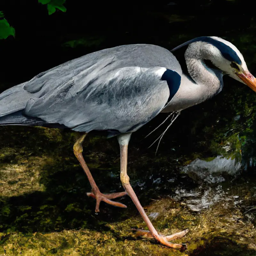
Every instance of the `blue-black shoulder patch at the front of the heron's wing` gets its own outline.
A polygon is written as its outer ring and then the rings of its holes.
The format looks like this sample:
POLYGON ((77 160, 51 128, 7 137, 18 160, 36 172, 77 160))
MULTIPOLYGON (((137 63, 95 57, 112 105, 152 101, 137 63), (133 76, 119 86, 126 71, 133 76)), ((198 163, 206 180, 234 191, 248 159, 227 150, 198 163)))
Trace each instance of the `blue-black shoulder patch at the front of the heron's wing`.
POLYGON ((166 69, 166 71, 161 77, 161 80, 165 80, 168 84, 170 91, 170 96, 168 99, 169 102, 170 100, 172 100, 173 96, 176 94, 176 92, 178 92, 180 88, 181 77, 177 72, 171 69, 166 69))

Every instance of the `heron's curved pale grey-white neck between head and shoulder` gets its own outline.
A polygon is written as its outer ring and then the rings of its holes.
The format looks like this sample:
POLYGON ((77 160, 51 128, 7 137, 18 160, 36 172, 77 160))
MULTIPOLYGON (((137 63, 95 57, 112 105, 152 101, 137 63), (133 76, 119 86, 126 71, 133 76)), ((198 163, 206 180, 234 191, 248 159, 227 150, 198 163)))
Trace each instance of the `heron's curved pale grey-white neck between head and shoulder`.
MULTIPOLYGON (((186 72, 183 72, 178 92, 162 112, 178 111, 191 107, 221 91, 223 85, 222 73, 217 69, 214 70, 206 66, 204 60, 209 60, 209 56, 198 43, 188 45, 183 55, 183 62, 185 58, 185 68, 188 73, 186 75, 186 72)), ((182 67, 182 70, 185 68, 182 67)))

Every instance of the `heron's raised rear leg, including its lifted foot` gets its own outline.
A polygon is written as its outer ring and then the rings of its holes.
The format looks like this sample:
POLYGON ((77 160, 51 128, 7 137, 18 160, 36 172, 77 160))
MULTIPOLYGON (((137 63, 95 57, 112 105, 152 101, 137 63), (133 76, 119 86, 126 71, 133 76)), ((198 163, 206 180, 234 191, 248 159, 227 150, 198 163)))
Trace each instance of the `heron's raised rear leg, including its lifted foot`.
POLYGON ((104 201, 107 204, 111 204, 111 205, 114 205, 114 206, 117 206, 117 207, 126 208, 127 207, 126 205, 110 200, 110 199, 113 199, 113 198, 116 198, 116 197, 127 195, 127 193, 125 191, 124 192, 119 192, 119 193, 102 194, 100 192, 100 189, 96 185, 96 183, 95 183, 95 181, 92 177, 92 174, 91 174, 87 164, 85 163, 84 157, 82 155, 82 152, 83 152, 82 143, 83 143, 84 138, 86 137, 86 135, 87 135, 87 133, 84 133, 83 135, 81 135, 78 138, 78 140, 76 140, 76 142, 74 144, 74 147, 73 147, 73 151, 74 151, 74 154, 75 154, 76 158, 78 159, 79 163, 81 164, 81 166, 84 170, 84 173, 86 174, 86 176, 87 176, 87 178, 88 178, 88 180, 91 184, 92 192, 87 193, 87 196, 91 196, 91 197, 96 199, 95 212, 100 212, 99 206, 100 206, 101 201, 104 201))

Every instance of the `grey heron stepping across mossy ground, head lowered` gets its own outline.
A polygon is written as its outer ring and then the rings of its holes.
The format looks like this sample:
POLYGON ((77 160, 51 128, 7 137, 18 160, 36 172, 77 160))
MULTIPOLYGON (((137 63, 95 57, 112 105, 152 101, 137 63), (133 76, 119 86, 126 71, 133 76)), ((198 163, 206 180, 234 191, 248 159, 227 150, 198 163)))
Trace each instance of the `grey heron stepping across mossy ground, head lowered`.
POLYGON ((159 235, 134 193, 127 175, 128 143, 132 132, 159 113, 181 111, 218 94, 225 74, 256 92, 256 79, 242 54, 220 37, 197 37, 172 51, 152 44, 108 48, 65 62, 2 92, 0 125, 80 132, 73 150, 91 184, 87 195, 96 199, 95 212, 99 212, 101 201, 126 207, 110 199, 128 194, 149 236, 183 250, 185 244, 169 241, 184 236, 188 229, 171 236, 159 235), (183 53, 178 56, 179 51, 183 53), (82 143, 92 130, 117 137, 124 192, 102 194, 97 187, 82 155, 82 143))

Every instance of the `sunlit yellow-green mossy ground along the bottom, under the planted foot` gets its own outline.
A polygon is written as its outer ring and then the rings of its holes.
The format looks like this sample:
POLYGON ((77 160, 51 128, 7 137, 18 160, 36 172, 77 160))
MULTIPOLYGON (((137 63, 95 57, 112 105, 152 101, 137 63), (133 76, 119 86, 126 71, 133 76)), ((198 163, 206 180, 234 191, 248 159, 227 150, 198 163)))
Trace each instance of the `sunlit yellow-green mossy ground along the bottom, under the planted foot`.
MULTIPOLYGON (((226 208, 217 204, 198 215, 190 212, 186 206, 166 198, 153 201, 146 210, 148 214, 159 212, 152 221, 163 235, 190 228, 184 238, 177 240, 188 245, 189 255, 194 255, 193 252, 200 250, 200 247, 201 250, 217 249, 213 242, 216 238, 218 246, 220 241, 226 241, 225 246, 231 247, 231 251, 240 252, 239 255, 253 255, 256 230, 250 223, 245 225, 241 212, 231 203, 226 208), (247 244, 250 244, 251 249, 246 249, 247 244)), ((139 216, 105 225, 108 231, 79 229, 33 234, 12 231, 1 233, 4 243, 0 252, 6 252, 7 255, 19 255, 20 252, 23 255, 186 255, 186 252, 174 251, 154 240, 135 238, 131 228, 145 228, 139 216)), ((228 254, 223 251, 223 255, 228 254)))

